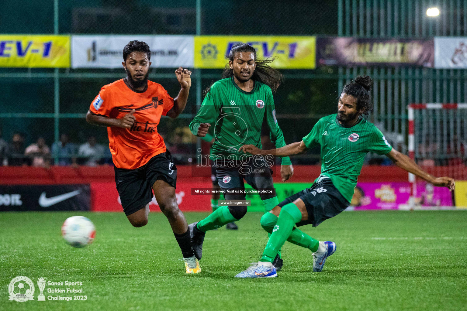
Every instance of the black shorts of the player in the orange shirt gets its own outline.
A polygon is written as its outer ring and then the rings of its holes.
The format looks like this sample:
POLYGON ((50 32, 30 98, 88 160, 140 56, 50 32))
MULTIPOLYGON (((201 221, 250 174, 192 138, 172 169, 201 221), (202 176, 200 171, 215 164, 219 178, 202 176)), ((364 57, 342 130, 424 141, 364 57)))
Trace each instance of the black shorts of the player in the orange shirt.
POLYGON ((142 209, 152 200, 152 185, 156 180, 165 180, 174 188, 177 183, 177 167, 168 150, 155 155, 148 163, 134 170, 116 166, 114 169, 121 206, 127 216, 142 209))

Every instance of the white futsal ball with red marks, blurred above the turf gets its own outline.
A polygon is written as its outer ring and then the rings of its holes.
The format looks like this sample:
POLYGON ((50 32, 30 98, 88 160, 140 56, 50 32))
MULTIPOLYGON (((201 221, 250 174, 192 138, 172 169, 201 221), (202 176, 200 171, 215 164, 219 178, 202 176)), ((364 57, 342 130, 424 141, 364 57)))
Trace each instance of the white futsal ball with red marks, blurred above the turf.
POLYGON ((62 226, 62 236, 72 247, 85 247, 94 241, 96 228, 89 218, 72 216, 65 220, 62 226))

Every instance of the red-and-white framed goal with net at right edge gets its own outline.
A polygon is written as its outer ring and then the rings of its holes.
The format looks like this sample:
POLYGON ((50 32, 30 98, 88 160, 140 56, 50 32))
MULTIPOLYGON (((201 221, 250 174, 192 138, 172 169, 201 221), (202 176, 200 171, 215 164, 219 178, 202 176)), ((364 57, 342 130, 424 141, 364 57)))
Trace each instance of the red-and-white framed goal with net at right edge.
MULTIPOLYGON (((467 103, 410 104, 408 121, 410 158, 436 177, 467 180, 467 103)), ((409 181, 411 207, 454 203, 452 194, 445 189, 432 187, 410 173, 409 181)))

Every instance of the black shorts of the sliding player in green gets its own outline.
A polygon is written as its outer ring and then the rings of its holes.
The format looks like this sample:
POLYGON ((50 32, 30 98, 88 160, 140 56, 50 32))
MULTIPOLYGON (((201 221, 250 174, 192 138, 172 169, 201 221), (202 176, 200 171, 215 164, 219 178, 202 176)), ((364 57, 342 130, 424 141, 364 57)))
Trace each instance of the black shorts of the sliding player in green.
POLYGON ((318 183, 313 184, 310 188, 291 195, 280 202, 279 206, 283 207, 285 204, 291 203, 298 198, 302 199, 305 203, 308 220, 298 222, 297 227, 308 224, 316 227, 326 219, 339 214, 350 205, 350 202, 340 194, 329 178, 318 180, 318 183))

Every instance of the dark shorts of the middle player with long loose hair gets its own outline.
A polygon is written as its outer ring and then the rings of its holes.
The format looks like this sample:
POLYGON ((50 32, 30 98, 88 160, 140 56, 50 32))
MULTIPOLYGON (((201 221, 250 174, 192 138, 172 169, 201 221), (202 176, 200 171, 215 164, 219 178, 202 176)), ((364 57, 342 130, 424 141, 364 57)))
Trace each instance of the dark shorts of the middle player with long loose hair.
MULTIPOLYGON (((254 189, 274 189, 272 181, 273 171, 269 168, 262 156, 252 156, 248 161, 216 161, 216 177, 222 190, 245 189, 245 180, 254 189)), ((261 199, 266 200, 276 196, 274 194, 261 194, 261 199)), ((245 194, 224 194, 226 200, 245 200, 245 194)))

